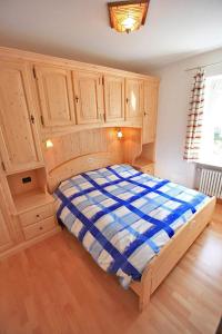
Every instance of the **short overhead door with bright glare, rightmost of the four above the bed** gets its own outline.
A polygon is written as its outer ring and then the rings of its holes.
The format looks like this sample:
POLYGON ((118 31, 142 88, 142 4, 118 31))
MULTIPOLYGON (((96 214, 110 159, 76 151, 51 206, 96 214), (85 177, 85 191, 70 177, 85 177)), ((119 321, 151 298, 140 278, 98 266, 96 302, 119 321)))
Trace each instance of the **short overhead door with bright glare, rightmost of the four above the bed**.
POLYGON ((143 108, 143 81, 127 79, 127 120, 142 119, 143 108))

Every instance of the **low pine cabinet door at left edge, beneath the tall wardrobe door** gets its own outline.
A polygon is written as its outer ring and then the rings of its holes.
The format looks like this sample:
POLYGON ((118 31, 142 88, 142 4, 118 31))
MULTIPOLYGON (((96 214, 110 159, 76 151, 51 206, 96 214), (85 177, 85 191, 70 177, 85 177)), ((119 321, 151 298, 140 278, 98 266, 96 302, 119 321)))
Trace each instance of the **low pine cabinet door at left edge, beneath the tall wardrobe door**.
POLYGON ((13 244, 7 225, 7 220, 9 222, 9 219, 6 216, 6 209, 3 205, 4 200, 0 188, 0 252, 6 250, 13 244))

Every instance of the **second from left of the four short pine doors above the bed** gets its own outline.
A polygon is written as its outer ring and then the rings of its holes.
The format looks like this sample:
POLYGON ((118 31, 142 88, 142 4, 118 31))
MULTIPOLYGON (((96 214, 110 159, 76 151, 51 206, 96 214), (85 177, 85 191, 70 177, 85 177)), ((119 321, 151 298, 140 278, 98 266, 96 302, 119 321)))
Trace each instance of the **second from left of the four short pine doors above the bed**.
POLYGON ((74 99, 78 124, 103 121, 102 77, 98 72, 74 71, 74 99))

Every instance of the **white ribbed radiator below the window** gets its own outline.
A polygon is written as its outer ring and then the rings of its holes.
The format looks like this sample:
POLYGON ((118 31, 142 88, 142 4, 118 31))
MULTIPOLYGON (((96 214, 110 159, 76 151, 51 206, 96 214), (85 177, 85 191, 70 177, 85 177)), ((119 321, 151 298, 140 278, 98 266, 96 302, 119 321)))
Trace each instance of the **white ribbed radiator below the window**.
POLYGON ((222 170, 201 168, 199 190, 222 198, 222 170))

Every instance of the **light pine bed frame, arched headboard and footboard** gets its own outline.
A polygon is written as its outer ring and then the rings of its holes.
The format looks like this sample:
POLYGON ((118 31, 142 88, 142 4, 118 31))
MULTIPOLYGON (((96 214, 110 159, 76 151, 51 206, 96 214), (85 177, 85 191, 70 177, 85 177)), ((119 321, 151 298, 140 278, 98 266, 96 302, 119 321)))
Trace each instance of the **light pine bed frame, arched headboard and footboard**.
MULTIPOLYGON (((122 161, 113 153, 98 153, 77 157, 49 171, 49 190, 53 191, 62 180, 71 176, 120 163, 122 161)), ((139 296, 139 310, 141 312, 148 306, 152 293, 211 222, 214 206, 215 197, 209 199, 148 264, 141 282, 133 282, 130 285, 139 296)))

